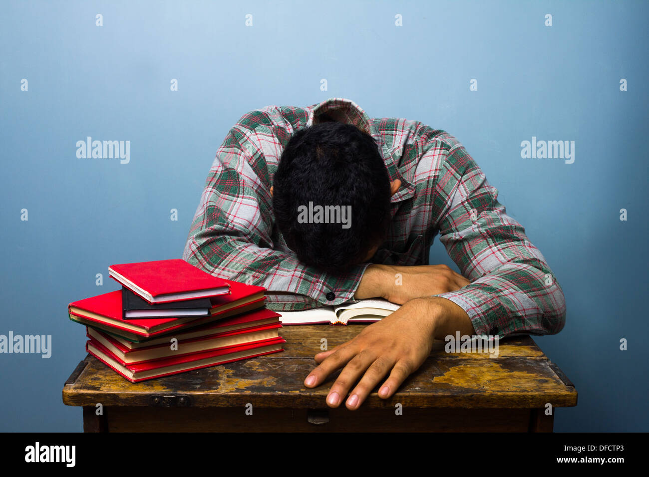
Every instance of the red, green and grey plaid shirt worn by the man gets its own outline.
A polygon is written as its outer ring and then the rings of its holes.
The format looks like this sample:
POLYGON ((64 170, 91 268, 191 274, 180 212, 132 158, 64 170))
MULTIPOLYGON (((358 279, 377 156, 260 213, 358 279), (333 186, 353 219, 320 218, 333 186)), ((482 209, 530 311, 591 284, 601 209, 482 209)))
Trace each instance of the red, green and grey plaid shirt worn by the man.
POLYGON ((434 295, 458 304, 476 334, 554 334, 565 323, 563 291, 541 252, 509 217, 459 141, 419 121, 371 119, 349 99, 265 106, 243 115, 219 147, 191 224, 183 258, 208 273, 267 289, 267 308, 304 310, 354 302, 369 263, 345 275, 305 266, 286 246, 270 188, 291 134, 321 115, 356 125, 378 143, 390 180, 386 243, 372 262, 428 263, 435 235, 471 284, 434 295))

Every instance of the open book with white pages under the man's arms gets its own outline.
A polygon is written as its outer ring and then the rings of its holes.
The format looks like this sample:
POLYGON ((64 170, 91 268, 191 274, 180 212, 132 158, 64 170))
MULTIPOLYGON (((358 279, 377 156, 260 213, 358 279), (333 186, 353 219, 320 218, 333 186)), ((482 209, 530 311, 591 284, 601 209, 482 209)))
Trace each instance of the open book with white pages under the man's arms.
POLYGON ((325 306, 302 312, 277 312, 286 324, 348 324, 373 323, 398 310, 400 305, 383 299, 360 300, 340 306, 325 306))

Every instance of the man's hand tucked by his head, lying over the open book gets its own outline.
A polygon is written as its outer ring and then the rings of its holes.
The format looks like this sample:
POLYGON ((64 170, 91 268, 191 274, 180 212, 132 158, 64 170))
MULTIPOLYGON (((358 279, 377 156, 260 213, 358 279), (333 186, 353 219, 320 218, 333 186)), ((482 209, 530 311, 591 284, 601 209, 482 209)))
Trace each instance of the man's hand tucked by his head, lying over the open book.
POLYGON ((380 297, 402 305, 415 298, 457 291, 470 283, 447 265, 402 267, 372 264, 365 269, 354 298, 380 297))

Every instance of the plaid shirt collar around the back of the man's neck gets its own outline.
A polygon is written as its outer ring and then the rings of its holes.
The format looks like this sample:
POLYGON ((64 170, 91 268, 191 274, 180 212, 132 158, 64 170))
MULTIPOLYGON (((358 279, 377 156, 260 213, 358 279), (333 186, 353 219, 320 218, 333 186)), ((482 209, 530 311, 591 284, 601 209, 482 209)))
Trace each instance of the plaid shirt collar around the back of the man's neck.
MULTIPOLYGON (((332 117, 335 121, 340 123, 352 124, 358 127, 360 130, 364 130, 370 136, 376 140, 378 145, 378 151, 387 167, 387 173, 390 177, 390 180, 399 179, 401 181, 401 187, 395 195, 392 196, 390 202, 400 202, 405 199, 410 199, 415 193, 415 186, 408 182, 400 173, 397 164, 395 162, 395 157, 390 152, 389 148, 384 141, 384 138, 376 127, 374 127, 374 121, 372 121, 369 116, 365 113, 365 110, 354 103, 351 99, 344 98, 330 98, 326 99, 322 103, 312 104, 309 107, 312 109, 312 114, 309 115, 307 126, 313 125, 313 119, 316 116, 321 114, 327 114, 332 117)), ((317 123, 317 121, 316 121, 317 123)))

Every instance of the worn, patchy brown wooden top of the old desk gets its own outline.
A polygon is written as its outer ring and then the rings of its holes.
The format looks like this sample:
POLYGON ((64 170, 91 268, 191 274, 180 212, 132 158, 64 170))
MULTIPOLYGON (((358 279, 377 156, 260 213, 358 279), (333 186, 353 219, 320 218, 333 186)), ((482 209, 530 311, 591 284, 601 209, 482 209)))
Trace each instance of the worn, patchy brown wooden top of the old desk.
MULTIPOLYGON (((131 383, 93 356, 79 363, 63 388, 69 406, 151 406, 160 396, 182 395, 197 407, 253 406, 326 408, 325 398, 338 373, 309 389, 304 378, 315 367, 321 339, 328 349, 356 336, 363 324, 348 326, 284 326, 285 350, 267 356, 131 383)), ((575 406, 577 391, 529 336, 503 339, 498 357, 489 354, 447 353, 435 341, 430 356, 393 397, 379 398, 374 389, 363 407, 545 408, 575 406)), ((158 404, 159 405, 159 404, 158 404)))

